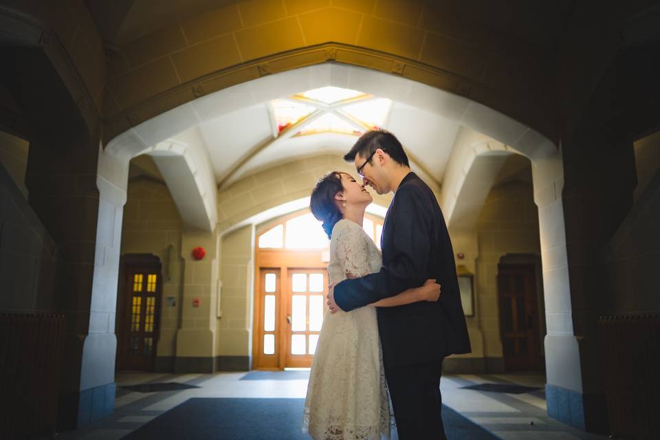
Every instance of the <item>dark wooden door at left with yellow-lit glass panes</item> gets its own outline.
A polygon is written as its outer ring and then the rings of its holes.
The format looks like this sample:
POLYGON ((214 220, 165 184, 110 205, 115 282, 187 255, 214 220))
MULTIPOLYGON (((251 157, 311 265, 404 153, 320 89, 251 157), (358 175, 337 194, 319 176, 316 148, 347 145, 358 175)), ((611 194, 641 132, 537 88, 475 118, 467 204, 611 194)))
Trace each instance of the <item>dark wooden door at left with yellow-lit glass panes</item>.
POLYGON ((121 278, 116 368, 153 371, 160 335, 160 263, 153 256, 122 257, 121 278))

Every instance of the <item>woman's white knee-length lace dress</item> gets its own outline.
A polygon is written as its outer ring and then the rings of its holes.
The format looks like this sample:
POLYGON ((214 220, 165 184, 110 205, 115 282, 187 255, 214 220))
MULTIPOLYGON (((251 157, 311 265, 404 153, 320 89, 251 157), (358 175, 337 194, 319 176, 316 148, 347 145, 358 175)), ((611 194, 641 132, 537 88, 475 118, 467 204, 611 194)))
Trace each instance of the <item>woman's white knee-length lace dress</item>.
MULTIPOLYGON (((357 223, 332 230, 330 283, 380 270, 382 257, 357 223)), ((389 439, 393 417, 375 307, 326 312, 311 365, 303 431, 315 440, 389 439)))

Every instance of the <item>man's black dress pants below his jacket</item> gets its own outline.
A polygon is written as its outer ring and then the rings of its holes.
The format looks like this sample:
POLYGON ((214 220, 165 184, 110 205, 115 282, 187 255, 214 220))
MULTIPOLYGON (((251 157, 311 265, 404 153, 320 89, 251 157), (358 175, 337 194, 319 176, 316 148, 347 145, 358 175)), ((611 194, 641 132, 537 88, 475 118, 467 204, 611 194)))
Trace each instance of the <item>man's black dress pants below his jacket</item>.
POLYGON ((385 369, 399 440, 444 440, 442 359, 385 369))

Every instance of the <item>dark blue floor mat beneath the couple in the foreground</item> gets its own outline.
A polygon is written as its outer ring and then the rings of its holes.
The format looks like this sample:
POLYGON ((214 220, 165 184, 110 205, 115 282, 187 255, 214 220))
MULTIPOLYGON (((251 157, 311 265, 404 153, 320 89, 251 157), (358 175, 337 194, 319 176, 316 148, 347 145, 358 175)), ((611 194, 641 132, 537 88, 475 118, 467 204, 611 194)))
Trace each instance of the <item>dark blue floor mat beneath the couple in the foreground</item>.
MULTIPOLYGON (((192 398, 126 435, 126 440, 309 440, 300 430, 304 399, 192 398)), ((443 406, 449 439, 496 440, 493 434, 443 406)))

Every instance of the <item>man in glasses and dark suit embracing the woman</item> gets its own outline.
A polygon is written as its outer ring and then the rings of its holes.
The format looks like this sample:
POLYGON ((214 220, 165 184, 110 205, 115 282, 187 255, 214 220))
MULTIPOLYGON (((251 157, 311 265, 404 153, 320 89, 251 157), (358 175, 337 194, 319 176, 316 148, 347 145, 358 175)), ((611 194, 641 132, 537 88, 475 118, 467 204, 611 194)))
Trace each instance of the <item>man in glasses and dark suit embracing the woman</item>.
POLYGON ((432 190, 410 171, 392 133, 364 133, 344 160, 354 162, 364 185, 395 195, 383 226, 380 272, 338 283, 330 289, 328 305, 332 313, 350 311, 419 287, 428 278, 437 280, 442 286, 437 302, 379 307, 378 329, 399 439, 445 439, 442 361, 470 353, 447 225, 432 190))

